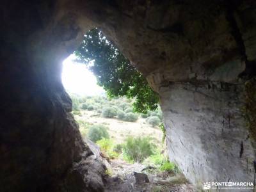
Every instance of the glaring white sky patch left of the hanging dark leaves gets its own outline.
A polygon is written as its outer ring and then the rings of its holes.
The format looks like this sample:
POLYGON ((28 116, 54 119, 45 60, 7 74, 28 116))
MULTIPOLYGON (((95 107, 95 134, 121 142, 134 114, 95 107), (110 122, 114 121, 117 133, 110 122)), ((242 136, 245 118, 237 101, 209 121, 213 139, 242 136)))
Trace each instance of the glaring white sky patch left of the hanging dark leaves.
POLYGON ((74 54, 63 61, 62 83, 68 92, 78 95, 102 95, 105 93, 102 87, 97 85, 97 79, 93 73, 82 63, 76 63, 74 54))

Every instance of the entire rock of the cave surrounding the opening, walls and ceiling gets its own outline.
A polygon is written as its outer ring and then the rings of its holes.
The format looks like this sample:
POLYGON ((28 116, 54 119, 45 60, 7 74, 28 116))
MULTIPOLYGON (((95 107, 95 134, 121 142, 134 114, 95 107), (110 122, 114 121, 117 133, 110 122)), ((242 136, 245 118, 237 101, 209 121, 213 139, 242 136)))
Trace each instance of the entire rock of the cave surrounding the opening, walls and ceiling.
POLYGON ((103 190, 61 84, 61 62, 95 27, 159 93, 170 158, 193 184, 252 180, 255 10, 250 0, 1 2, 3 191, 103 190))

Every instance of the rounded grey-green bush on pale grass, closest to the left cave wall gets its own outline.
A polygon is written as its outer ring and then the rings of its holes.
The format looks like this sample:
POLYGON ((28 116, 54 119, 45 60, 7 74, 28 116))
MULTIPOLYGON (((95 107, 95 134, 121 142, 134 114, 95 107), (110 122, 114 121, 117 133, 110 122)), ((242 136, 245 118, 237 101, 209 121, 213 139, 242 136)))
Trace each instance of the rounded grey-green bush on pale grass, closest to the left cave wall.
POLYGON ((93 142, 99 141, 102 138, 109 138, 107 129, 108 127, 105 125, 92 125, 88 131, 88 138, 93 142))

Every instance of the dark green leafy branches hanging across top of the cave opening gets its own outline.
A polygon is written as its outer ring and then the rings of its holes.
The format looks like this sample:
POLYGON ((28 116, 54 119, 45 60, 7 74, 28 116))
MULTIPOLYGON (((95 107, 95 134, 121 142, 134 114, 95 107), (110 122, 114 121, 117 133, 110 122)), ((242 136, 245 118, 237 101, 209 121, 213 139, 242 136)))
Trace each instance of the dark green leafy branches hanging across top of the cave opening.
POLYGON ((135 98, 134 110, 140 113, 157 108, 157 93, 98 29, 92 29, 84 35, 75 54, 79 62, 89 65, 98 84, 107 91, 109 97, 135 98))

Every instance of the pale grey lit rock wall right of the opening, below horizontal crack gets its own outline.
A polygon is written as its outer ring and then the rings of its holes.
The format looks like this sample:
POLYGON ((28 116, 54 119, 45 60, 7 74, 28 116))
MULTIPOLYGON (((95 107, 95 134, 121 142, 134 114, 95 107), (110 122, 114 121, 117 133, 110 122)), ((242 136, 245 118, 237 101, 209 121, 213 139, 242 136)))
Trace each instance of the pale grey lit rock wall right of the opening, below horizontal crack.
POLYGON ((160 94, 170 159, 191 182, 253 182, 254 136, 244 118, 243 84, 174 83, 160 94))

